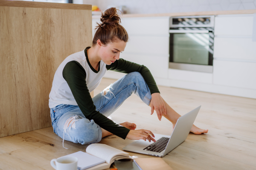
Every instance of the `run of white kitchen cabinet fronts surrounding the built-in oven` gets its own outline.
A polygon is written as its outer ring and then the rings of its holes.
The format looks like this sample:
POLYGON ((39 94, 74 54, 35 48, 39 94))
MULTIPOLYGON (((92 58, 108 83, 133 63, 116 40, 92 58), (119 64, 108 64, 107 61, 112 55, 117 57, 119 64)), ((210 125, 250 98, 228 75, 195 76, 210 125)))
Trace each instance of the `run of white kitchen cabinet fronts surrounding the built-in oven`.
MULTIPOLYGON (((93 19, 93 29, 96 21, 100 20, 93 19)), ((252 14, 215 17, 213 73, 169 68, 169 17, 123 17, 121 21, 130 39, 120 58, 148 67, 157 85, 256 99, 252 14)), ((104 77, 124 75, 107 71, 104 77)))

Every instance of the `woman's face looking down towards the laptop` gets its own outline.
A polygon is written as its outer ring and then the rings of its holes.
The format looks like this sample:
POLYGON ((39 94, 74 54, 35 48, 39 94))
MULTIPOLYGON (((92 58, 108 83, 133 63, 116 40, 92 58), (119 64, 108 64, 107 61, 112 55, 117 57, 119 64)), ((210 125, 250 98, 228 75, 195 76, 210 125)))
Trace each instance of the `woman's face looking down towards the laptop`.
POLYGON ((116 59, 119 59, 120 53, 125 50, 126 46, 126 42, 121 40, 118 42, 112 42, 108 45, 102 45, 102 43, 100 44, 99 56, 106 65, 111 65, 116 61, 116 59))

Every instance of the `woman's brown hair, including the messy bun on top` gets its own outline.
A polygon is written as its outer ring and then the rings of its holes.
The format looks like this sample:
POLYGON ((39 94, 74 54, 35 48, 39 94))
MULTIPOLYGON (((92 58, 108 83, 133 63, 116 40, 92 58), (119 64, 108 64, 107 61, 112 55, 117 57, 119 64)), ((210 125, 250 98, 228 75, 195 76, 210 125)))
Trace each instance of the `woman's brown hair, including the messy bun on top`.
POLYGON ((101 24, 96 22, 98 26, 96 26, 95 30, 98 29, 93 37, 93 46, 97 44, 97 40, 100 40, 103 45, 119 40, 128 42, 128 34, 125 28, 119 24, 121 19, 117 14, 116 8, 108 8, 103 11, 100 21, 102 22, 101 24))

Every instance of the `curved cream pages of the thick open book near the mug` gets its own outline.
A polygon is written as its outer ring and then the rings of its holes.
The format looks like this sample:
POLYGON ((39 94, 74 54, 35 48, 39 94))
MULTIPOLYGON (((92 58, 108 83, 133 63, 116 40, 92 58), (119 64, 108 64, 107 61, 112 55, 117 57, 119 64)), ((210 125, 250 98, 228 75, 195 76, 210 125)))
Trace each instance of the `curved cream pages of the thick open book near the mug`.
POLYGON ((116 159, 129 158, 128 153, 106 144, 90 144, 86 148, 86 152, 104 159, 108 164, 112 164, 116 156, 116 159))

